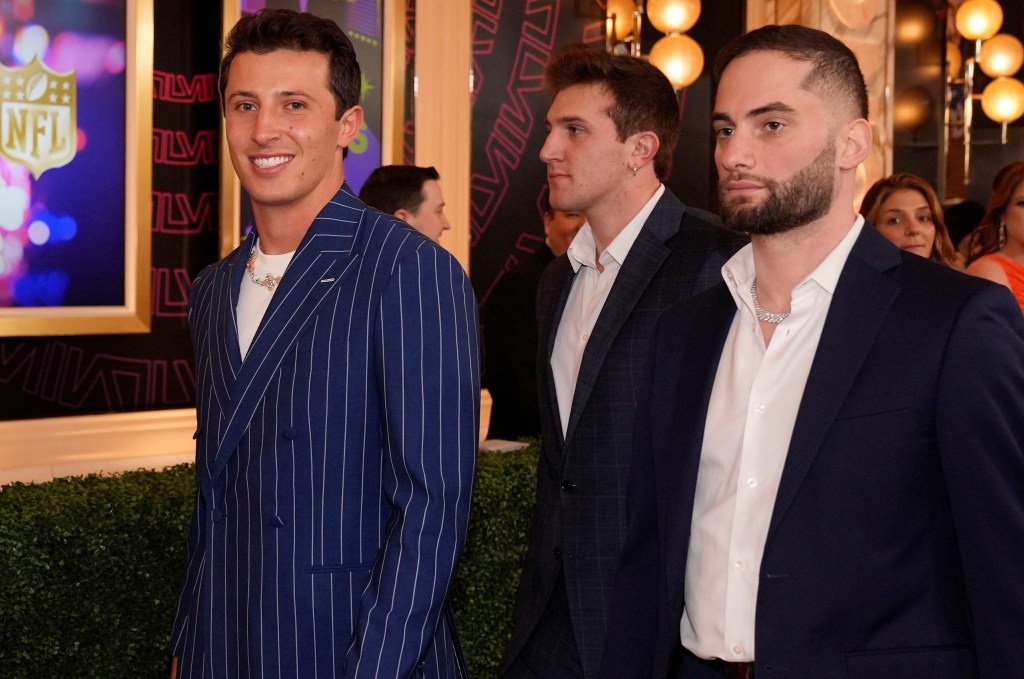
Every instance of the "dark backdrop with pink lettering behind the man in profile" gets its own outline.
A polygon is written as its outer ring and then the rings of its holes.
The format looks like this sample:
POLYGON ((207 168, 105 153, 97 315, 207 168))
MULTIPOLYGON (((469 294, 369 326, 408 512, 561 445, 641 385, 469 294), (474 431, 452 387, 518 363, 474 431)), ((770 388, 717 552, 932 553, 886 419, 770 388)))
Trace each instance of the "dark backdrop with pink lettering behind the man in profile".
MULTIPOLYGON (((565 45, 604 43, 603 0, 473 3, 473 141, 470 271, 486 303, 498 279, 544 240, 540 198, 548 96, 544 66, 565 45)), ((711 62, 743 32, 744 0, 701 3, 688 32, 705 51, 705 73, 681 94, 682 135, 666 182, 683 203, 715 209, 711 62)), ((660 34, 645 27, 644 51, 660 34)))

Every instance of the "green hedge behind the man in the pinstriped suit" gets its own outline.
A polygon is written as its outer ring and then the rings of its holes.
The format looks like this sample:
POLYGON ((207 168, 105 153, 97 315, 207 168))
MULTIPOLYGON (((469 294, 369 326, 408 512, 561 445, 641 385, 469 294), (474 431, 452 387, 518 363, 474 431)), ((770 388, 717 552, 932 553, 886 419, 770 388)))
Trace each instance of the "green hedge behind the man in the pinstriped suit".
MULTIPOLYGON (((494 677, 534 506, 537 447, 480 454, 454 602, 474 679, 494 677)), ((0 490, 0 677, 167 674, 190 465, 0 490)))

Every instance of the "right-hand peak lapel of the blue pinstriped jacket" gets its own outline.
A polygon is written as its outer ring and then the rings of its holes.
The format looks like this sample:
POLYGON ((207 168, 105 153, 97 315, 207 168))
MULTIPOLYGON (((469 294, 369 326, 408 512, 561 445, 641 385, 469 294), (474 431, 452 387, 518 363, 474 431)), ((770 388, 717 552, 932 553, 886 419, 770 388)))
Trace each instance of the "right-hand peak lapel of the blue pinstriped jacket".
POLYGON ((238 372, 230 406, 224 413, 227 425, 210 465, 210 479, 220 474, 238 447, 285 355, 324 300, 355 270, 358 253, 352 249, 362 213, 362 204, 346 184, 299 244, 238 372))

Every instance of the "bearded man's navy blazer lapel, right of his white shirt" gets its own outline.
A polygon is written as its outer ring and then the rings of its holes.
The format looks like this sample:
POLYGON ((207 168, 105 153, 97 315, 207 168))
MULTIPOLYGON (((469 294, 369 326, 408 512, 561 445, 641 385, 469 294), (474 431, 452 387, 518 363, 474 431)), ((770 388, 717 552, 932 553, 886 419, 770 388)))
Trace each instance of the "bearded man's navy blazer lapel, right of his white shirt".
POLYGON ((840 274, 807 376, 768 528, 769 540, 806 478, 899 294, 900 285, 884 274, 899 262, 899 251, 865 223, 840 274))

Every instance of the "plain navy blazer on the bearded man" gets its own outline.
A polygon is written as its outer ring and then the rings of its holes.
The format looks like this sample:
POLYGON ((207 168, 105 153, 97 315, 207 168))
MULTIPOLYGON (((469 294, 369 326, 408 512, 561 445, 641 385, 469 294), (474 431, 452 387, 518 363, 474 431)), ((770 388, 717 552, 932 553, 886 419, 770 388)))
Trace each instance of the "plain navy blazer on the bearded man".
MULTIPOLYGON (((677 676, 697 463, 735 313, 722 284, 658 324, 605 679, 677 676)), ((1006 288, 903 253, 865 225, 772 512, 757 676, 1024 676, 1022 562, 1020 307, 1006 288)))

